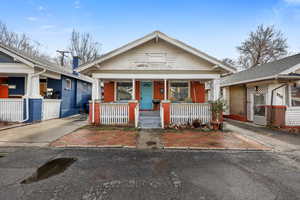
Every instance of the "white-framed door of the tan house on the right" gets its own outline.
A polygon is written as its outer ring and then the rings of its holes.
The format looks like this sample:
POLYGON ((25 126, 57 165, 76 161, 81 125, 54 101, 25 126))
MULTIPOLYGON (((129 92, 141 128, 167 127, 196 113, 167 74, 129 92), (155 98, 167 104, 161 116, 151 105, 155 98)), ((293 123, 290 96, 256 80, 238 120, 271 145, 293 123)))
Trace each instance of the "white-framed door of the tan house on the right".
POLYGON ((266 94, 254 94, 253 97, 254 116, 253 122, 258 125, 267 125, 266 118, 266 94))

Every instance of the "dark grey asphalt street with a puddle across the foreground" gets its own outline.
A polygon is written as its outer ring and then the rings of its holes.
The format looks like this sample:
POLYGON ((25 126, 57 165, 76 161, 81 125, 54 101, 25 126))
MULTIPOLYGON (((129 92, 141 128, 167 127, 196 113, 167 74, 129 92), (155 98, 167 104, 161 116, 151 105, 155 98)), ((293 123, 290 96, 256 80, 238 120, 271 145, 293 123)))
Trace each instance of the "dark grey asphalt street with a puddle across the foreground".
MULTIPOLYGON (((299 162, 272 152, 7 149, 0 158, 0 199, 283 199, 300 198, 299 162), (73 158, 52 169, 55 158, 73 158), (48 170, 48 171, 47 171, 48 170)), ((1 154, 0 154, 1 155, 1 154)))

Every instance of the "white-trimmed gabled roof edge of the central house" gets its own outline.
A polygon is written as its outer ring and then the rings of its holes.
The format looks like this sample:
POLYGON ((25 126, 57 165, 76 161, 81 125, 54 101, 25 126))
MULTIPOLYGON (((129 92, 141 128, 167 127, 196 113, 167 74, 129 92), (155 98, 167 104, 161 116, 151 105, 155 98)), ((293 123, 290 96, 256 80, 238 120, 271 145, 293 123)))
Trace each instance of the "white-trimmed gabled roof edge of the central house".
POLYGON ((92 67, 92 66, 94 66, 98 63, 101 63, 105 60, 111 59, 112 57, 120 55, 120 54, 122 54, 122 53, 124 53, 124 52, 126 52, 130 49, 133 49, 133 48, 135 48, 135 47, 137 47, 141 44, 144 44, 144 43, 146 43, 150 40, 153 40, 153 39, 162 39, 162 40, 164 40, 164 41, 166 41, 170 44, 173 44, 174 46, 177 46, 177 47, 179 47, 179 48, 181 48, 181 49, 183 49, 183 50, 185 50, 185 51, 187 51, 187 52, 189 52, 189 53, 191 53, 191 54, 193 54, 197 57, 200 57, 204 60, 207 60, 210 63, 213 63, 216 66, 218 66, 218 67, 220 67, 220 68, 222 68, 222 69, 224 69, 228 72, 231 72, 231 73, 236 72, 236 69, 234 67, 229 66, 229 65, 223 63, 222 61, 220 61, 220 60, 218 60, 218 59, 216 59, 216 58, 214 58, 214 57, 212 57, 212 56, 210 56, 210 55, 208 55, 208 54, 206 54, 206 53, 204 53, 204 52, 202 52, 198 49, 195 49, 195 48, 193 48, 193 47, 191 47, 191 46, 189 46, 189 45, 187 45, 187 44, 185 44, 185 43, 183 43, 179 40, 171 38, 171 37, 167 36, 166 34, 160 32, 160 31, 154 31, 154 32, 142 37, 142 38, 139 38, 139 39, 137 39, 133 42, 130 42, 130 43, 128 43, 128 44, 126 44, 126 45, 124 45, 120 48, 117 48, 113 51, 110 51, 110 52, 100 56, 99 58, 97 58, 93 62, 85 63, 85 64, 81 65, 77 69, 77 71, 81 72, 83 70, 86 70, 86 69, 88 69, 88 68, 90 68, 90 67, 92 67))

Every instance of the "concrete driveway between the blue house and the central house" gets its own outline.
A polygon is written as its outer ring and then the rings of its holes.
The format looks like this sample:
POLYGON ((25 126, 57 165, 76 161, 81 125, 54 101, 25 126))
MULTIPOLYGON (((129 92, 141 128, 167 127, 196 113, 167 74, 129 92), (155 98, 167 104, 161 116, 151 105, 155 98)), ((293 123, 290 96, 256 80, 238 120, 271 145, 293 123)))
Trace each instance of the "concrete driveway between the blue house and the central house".
POLYGON ((0 146, 48 146, 86 124, 86 116, 78 115, 3 130, 0 131, 0 146))

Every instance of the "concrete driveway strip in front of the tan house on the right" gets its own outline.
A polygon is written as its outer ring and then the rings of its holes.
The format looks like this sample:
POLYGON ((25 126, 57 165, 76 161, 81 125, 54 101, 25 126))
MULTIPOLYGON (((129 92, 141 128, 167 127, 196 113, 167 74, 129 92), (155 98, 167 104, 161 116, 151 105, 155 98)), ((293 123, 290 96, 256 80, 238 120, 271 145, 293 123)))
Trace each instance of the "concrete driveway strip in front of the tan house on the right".
POLYGON ((272 130, 266 127, 234 120, 226 120, 225 128, 271 147, 275 151, 300 151, 300 135, 292 135, 287 132, 272 130))

